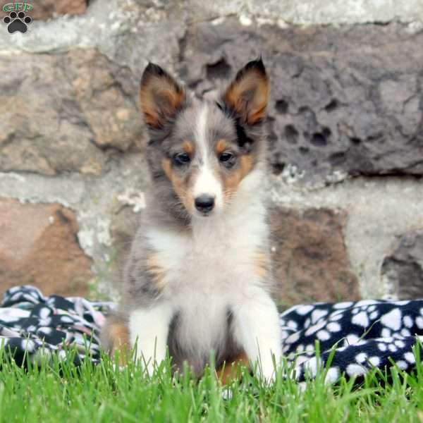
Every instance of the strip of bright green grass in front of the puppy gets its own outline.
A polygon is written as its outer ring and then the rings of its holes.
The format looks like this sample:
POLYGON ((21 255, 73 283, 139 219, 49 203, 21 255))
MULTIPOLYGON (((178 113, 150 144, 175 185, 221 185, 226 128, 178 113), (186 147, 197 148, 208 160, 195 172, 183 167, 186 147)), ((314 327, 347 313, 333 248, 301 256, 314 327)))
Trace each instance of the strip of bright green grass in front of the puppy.
MULTIPOLYGON (((418 352, 417 352, 418 355, 418 352)), ((6 359, 0 372, 1 422, 422 422, 423 368, 412 375, 393 367, 364 381, 317 379, 300 385, 278 374, 273 386, 240 369, 231 399, 209 370, 200 381, 170 376, 168 363, 149 379, 129 364, 42 363, 27 369, 6 359)))

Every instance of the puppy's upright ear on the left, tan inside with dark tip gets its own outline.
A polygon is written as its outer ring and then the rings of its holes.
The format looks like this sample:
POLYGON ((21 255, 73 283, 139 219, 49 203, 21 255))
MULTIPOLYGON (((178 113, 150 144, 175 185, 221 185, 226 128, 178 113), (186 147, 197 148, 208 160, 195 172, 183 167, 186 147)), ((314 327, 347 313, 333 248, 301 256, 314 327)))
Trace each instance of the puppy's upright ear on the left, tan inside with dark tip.
POLYGON ((185 91, 160 66, 149 63, 142 74, 140 104, 144 121, 152 128, 162 128, 185 102, 185 91))

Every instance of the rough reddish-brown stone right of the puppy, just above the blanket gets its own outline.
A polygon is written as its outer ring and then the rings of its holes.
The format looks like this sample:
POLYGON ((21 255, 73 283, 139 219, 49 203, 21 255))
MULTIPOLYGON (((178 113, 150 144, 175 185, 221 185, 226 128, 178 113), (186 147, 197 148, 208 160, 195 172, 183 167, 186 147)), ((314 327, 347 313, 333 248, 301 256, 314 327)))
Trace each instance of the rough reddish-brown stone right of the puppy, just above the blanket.
POLYGON ((360 298, 343 239, 345 219, 345 212, 331 209, 274 209, 272 261, 282 304, 360 298))

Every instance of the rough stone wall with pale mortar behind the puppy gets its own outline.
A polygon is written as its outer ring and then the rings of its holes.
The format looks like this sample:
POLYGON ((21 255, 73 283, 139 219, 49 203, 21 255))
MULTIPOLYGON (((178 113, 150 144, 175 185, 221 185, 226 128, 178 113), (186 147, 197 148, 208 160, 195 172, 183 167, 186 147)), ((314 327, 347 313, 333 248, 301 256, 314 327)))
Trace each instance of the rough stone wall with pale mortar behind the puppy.
POLYGON ((37 1, 0 27, 0 290, 113 293, 145 204, 147 61, 207 94, 262 54, 283 304, 423 296, 419 0, 37 1))

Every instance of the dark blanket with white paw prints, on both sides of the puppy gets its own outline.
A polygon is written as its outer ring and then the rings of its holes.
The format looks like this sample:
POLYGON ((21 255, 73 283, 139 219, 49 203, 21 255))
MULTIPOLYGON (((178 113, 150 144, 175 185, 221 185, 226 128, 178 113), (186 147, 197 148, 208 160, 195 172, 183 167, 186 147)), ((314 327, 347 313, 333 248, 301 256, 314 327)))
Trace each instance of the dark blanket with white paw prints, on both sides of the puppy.
MULTIPOLYGON (((75 364, 99 361, 99 330, 115 307, 84 298, 45 297, 33 286, 7 290, 0 306, 0 340, 16 362, 22 363, 25 355, 37 362, 52 352, 61 359, 67 348, 75 347, 75 364)), ((314 376, 329 357, 329 382, 343 373, 361 376, 393 363, 410 371, 415 366, 412 347, 423 339, 423 300, 297 305, 281 313, 281 331, 283 353, 295 362, 299 380, 314 376)))

